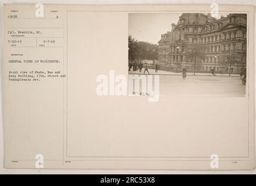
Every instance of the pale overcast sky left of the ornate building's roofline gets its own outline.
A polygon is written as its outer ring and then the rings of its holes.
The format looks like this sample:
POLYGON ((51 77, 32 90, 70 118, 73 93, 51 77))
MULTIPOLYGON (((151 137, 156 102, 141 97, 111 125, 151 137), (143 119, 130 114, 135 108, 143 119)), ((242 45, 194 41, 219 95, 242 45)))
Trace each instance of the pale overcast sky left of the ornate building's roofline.
MULTIPOLYGON (((182 13, 129 13, 129 35, 138 41, 157 44, 161 34, 171 31, 182 13)), ((221 15, 219 15, 220 17, 221 15)), ((226 14, 223 14, 226 16, 226 14)))

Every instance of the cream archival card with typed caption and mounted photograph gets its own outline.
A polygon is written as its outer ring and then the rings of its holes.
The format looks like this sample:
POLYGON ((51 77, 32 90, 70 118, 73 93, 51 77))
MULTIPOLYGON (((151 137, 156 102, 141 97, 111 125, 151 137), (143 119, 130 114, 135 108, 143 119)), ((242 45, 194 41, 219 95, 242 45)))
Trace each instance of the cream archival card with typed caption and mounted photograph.
POLYGON ((5 167, 254 169, 254 7, 5 4, 5 167))

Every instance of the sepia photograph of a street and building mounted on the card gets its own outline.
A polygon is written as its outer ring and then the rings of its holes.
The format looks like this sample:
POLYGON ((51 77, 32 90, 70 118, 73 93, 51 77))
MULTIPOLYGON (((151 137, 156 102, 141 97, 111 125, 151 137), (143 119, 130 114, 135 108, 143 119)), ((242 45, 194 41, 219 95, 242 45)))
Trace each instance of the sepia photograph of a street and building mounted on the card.
POLYGON ((246 14, 129 13, 128 47, 129 78, 159 75, 160 96, 246 95, 246 14))

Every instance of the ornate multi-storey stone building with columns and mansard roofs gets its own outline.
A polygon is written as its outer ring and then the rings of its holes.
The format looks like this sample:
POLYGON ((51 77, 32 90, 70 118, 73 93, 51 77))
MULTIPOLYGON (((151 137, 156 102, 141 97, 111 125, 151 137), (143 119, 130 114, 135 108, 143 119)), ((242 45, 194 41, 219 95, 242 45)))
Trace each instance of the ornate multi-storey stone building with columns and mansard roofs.
MULTIPOLYGON (((193 69, 186 48, 204 46, 205 58, 199 71, 240 73, 246 67, 247 15, 230 14, 220 19, 210 14, 183 13, 171 31, 161 35, 159 61, 171 69, 193 69)), ((202 48, 202 47, 201 47, 202 48)))

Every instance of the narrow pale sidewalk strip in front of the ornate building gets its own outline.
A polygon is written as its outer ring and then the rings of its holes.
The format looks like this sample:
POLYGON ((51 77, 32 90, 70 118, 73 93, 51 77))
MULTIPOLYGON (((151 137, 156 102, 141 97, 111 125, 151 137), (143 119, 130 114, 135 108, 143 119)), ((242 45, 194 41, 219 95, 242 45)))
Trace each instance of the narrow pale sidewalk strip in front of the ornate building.
MULTIPOLYGON (((128 71, 129 74, 143 74, 144 73, 145 68, 142 68, 141 73, 139 72, 139 70, 137 71, 128 71)), ((166 70, 158 70, 157 72, 155 72, 155 69, 148 69, 149 73, 151 75, 172 75, 172 76, 181 76, 182 72, 174 72, 174 71, 166 71, 166 70)), ((148 72, 146 71, 145 74, 148 74, 148 72)), ((229 76, 229 74, 211 74, 211 73, 194 73, 193 72, 187 72, 187 76, 229 76)), ((240 74, 230 74, 230 76, 240 76, 240 74)))

